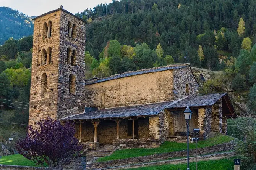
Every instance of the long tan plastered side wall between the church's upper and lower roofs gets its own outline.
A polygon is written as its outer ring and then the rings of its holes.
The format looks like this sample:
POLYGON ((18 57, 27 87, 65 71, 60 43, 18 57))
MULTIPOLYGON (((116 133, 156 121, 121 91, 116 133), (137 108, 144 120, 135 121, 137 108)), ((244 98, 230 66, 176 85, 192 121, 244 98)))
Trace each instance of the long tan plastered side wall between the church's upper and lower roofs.
POLYGON ((118 107, 174 99, 173 70, 134 75, 85 86, 86 106, 118 107))

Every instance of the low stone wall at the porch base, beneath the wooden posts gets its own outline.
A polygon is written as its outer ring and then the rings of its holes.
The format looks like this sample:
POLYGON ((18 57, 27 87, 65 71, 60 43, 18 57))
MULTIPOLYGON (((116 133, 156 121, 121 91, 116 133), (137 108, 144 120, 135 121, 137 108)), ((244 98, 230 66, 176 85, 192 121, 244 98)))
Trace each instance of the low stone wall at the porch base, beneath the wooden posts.
POLYGON ((162 143, 160 139, 119 139, 113 141, 113 145, 120 149, 158 148, 162 143))

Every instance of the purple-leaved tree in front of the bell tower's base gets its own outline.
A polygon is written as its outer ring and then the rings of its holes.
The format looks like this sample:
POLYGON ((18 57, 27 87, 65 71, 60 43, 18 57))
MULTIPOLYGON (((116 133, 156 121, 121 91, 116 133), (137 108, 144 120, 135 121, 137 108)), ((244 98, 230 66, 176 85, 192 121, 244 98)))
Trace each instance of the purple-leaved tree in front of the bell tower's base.
POLYGON ((36 164, 49 165, 61 169, 62 164, 69 164, 79 156, 82 146, 78 145, 75 127, 72 123, 62 125, 59 120, 50 117, 40 119, 35 126, 28 127, 26 138, 16 143, 16 149, 27 159, 36 164))

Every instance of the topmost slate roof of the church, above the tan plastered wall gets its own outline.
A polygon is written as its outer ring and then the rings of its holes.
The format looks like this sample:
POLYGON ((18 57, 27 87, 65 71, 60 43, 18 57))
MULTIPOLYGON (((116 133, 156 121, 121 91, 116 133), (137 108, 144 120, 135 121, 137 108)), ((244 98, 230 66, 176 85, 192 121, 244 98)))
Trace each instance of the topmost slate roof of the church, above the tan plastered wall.
POLYGON ((141 69, 141 70, 137 70, 137 71, 128 71, 128 72, 124 72, 124 73, 121 73, 121 74, 115 74, 115 75, 112 75, 110 77, 106 77, 106 78, 103 78, 103 79, 94 79, 95 81, 88 82, 88 83, 86 83, 86 85, 105 82, 105 81, 113 80, 113 79, 119 79, 119 78, 123 78, 123 77, 129 77, 129 76, 132 76, 132 75, 139 75, 139 74, 165 71, 165 70, 172 70, 172 69, 181 69, 181 68, 185 68, 185 67, 190 67, 190 65, 189 64, 172 64, 172 65, 164 66, 164 67, 154 67, 154 68, 150 68, 150 69, 141 69))

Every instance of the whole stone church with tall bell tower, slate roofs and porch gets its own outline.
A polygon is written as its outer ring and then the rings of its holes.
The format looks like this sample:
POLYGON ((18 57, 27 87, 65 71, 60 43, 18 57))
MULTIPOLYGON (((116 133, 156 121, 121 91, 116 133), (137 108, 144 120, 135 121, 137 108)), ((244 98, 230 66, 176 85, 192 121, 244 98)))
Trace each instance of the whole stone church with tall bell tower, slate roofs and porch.
POLYGON ((129 71, 85 79, 86 27, 60 8, 34 18, 29 125, 52 117, 72 121, 84 145, 155 148, 186 140, 183 111, 192 116, 190 135, 227 134, 236 117, 227 93, 198 96, 190 64, 129 71))

